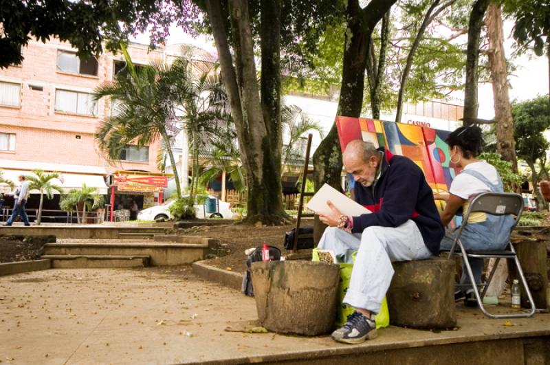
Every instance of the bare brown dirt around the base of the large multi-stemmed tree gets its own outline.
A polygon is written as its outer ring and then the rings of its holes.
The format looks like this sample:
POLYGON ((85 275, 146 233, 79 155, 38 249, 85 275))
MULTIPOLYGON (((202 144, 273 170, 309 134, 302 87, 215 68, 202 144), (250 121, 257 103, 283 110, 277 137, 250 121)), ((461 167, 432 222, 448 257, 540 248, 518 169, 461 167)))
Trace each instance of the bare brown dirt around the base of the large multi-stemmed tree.
POLYGON ((241 223, 188 228, 179 230, 179 234, 203 236, 217 240, 219 249, 214 252, 216 257, 210 258, 206 263, 220 269, 230 269, 240 273, 246 269, 246 255, 244 252, 250 247, 267 243, 267 245, 278 247, 284 256, 285 233, 294 227, 295 225, 256 227, 241 223))

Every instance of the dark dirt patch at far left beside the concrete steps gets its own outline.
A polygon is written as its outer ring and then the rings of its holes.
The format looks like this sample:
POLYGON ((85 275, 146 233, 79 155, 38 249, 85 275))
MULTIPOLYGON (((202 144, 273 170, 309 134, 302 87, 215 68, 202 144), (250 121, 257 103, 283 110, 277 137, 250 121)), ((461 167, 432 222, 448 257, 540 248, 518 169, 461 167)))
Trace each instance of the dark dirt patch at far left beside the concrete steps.
POLYGON ((32 237, 0 236, 0 263, 38 260, 45 241, 32 237))

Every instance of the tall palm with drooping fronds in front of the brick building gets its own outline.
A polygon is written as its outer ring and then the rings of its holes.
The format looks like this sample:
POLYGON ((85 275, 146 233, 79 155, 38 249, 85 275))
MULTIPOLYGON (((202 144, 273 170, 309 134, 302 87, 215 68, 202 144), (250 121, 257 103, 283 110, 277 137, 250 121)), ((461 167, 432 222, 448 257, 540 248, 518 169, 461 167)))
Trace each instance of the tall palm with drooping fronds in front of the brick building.
MULTIPOLYGON (((179 118, 176 106, 186 97, 189 87, 185 63, 172 66, 153 63, 136 69, 122 47, 126 69, 120 71, 113 82, 95 90, 97 101, 104 96, 116 103, 116 113, 100 122, 95 135, 100 151, 110 161, 120 160, 120 153, 128 144, 142 147, 161 139, 172 166, 175 159, 170 140, 178 131, 179 118)), ((177 196, 181 197, 179 177, 173 170, 177 196)))

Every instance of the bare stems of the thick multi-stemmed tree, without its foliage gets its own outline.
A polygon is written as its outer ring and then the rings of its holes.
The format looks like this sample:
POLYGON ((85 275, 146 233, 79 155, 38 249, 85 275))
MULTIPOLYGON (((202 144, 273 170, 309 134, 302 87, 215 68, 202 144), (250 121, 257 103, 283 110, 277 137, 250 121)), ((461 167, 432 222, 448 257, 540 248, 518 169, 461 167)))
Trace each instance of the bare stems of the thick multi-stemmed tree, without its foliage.
MULTIPOLYGON (((275 113, 269 113, 269 120, 265 120, 264 111, 273 111, 280 96, 274 97, 266 93, 265 108, 261 104, 258 83, 256 81, 256 67, 254 64, 254 45, 250 30, 250 18, 248 3, 245 0, 230 0, 231 24, 233 47, 235 50, 236 69, 232 64, 232 56, 229 49, 228 36, 225 32, 225 21, 221 14, 219 0, 207 0, 206 8, 212 34, 219 54, 223 82, 228 89, 232 116, 235 122, 239 146, 243 155, 248 187, 248 221, 263 221, 264 223, 279 223, 285 217, 283 210, 283 197, 281 194, 281 149, 280 131, 276 131, 273 137, 270 132, 280 128, 280 105, 275 113), (279 110, 279 112, 277 112, 279 110), (277 126, 274 123, 279 123, 277 126), (268 125, 269 124, 269 125, 268 125)), ((278 14, 278 3, 265 3, 264 11, 270 14, 278 14)), ((269 14, 267 14, 269 16, 269 14)), ((280 16, 270 19, 270 26, 280 27, 280 16), (278 23, 278 24, 277 24, 278 23)), ((266 30, 267 32, 267 30, 266 30)), ((280 30, 274 30, 274 34, 280 30)), ((276 36, 276 35, 274 35, 276 36)), ((263 44, 267 49, 278 49, 278 40, 263 44)), ((266 55, 266 58, 272 54, 266 55)), ((269 78, 266 87, 275 87, 280 90, 280 71, 274 78, 278 66, 278 60, 266 67, 269 78)), ((262 75, 263 77, 263 75, 262 75)), ((279 102, 280 103, 280 102, 279 102)))

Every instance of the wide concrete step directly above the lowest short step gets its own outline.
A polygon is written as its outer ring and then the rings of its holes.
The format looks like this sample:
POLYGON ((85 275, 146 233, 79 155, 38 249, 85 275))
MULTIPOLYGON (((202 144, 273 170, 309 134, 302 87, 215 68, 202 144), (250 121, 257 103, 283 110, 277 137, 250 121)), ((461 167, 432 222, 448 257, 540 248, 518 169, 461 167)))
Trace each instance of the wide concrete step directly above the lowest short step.
MULTIPOLYGON (((121 240, 124 241, 124 240, 121 240)), ((150 256, 153 266, 186 265, 203 260, 210 252, 208 245, 187 243, 48 243, 45 255, 70 256, 150 256)))

